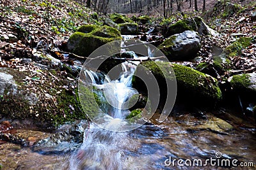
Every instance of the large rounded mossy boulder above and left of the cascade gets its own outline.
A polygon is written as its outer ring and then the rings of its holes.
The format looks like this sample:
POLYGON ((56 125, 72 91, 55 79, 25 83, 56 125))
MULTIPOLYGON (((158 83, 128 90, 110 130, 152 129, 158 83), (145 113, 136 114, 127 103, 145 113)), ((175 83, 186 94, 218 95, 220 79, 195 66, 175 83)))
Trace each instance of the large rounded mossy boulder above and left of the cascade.
MULTIPOLYGON (((67 49, 77 55, 88 57, 94 50, 100 46, 122 39, 120 32, 107 25, 83 25, 77 29, 68 39, 67 49)), ((106 52, 106 55, 111 53, 106 52)))

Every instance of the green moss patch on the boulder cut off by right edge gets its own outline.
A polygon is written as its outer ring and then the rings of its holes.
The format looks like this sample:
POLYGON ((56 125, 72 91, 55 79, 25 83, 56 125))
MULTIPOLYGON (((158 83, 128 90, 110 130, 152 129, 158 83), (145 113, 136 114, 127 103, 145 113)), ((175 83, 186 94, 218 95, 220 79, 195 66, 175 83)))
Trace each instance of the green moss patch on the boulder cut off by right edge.
POLYGON ((247 90, 251 85, 248 74, 234 75, 230 84, 232 88, 237 91, 247 90))

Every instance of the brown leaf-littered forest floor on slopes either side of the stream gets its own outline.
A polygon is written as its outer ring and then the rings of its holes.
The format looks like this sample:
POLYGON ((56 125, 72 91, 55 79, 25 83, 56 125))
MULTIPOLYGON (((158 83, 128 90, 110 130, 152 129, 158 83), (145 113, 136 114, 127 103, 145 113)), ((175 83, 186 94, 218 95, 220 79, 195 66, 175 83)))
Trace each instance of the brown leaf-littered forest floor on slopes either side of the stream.
MULTIPOLYGON (((210 2, 212 4, 208 4, 207 1, 207 8, 211 6, 213 9, 213 1, 210 2)), ((216 13, 212 13, 211 10, 205 13, 189 13, 188 11, 184 13, 184 16, 178 13, 172 16, 174 23, 185 18, 185 15, 186 17, 199 15, 220 34, 218 37, 202 37, 202 48, 198 54, 202 60, 194 62, 193 66, 211 59, 214 46, 223 51, 240 36, 255 39, 256 24, 251 20, 251 15, 256 10, 255 2, 245 0, 239 9, 236 13, 225 15, 225 17, 223 8, 216 9, 216 13)), ((77 27, 83 24, 102 25, 106 17, 98 17, 93 10, 84 7, 84 4, 68 0, 52 1, 50 4, 40 0, 8 0, 0 3, 0 14, 0 67, 17 69, 24 67, 20 59, 31 58, 31 55, 37 51, 47 53, 49 52, 47 48, 58 50, 58 47, 67 43, 69 36, 76 31, 77 27)), ((163 18, 152 18, 152 27, 159 26, 161 20, 163 18)), ((61 56, 60 53, 55 55, 59 57, 58 59, 61 59, 61 56)), ((239 73, 255 72, 255 57, 256 45, 252 43, 242 50, 241 55, 230 59, 232 62, 230 69, 239 70, 239 73)), ((61 60, 61 62, 67 61, 61 60)), ((31 69, 28 66, 25 65, 26 69, 31 69)))

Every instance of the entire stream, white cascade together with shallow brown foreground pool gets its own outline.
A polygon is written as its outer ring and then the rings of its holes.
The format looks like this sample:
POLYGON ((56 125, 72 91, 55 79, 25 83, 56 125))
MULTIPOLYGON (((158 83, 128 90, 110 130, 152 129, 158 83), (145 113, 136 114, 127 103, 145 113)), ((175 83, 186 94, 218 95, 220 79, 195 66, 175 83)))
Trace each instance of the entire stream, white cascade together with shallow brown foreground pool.
MULTIPOLYGON (((0 145, 0 159, 5 160, 3 169, 220 169, 210 164, 205 167, 164 164, 170 158, 205 161, 216 158, 218 152, 225 159, 256 162, 255 128, 252 125, 241 126, 243 120, 229 110, 204 112, 202 117, 173 110, 172 117, 164 122, 158 121, 159 113, 156 113, 148 124, 132 131, 116 132, 115 129, 125 124, 122 120, 129 114, 129 110, 120 109, 122 104, 137 93, 131 87, 134 64, 125 62, 122 70, 116 80, 103 75, 104 83, 99 74, 92 71, 84 73, 97 89, 108 87, 104 90, 105 96, 109 99, 116 97, 117 103, 106 109, 105 127, 111 127, 113 131, 91 122, 90 129, 84 132, 81 146, 68 153, 43 154, 33 152, 29 147, 4 143, 0 145), (218 115, 225 117, 219 118, 218 115)), ((20 133, 25 131, 27 136, 35 136, 36 139, 50 135, 27 130, 20 130, 20 133)), ((255 166, 246 168, 255 169, 255 166)))

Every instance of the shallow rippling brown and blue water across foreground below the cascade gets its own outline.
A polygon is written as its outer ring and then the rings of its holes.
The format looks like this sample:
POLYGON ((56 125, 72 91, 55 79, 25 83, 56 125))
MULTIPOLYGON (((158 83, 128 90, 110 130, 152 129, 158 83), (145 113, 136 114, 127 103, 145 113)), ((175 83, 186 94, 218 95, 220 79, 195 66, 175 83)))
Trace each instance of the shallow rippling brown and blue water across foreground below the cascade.
POLYGON ((220 119, 211 114, 206 117, 200 120, 179 115, 161 124, 153 118, 156 125, 143 125, 129 132, 110 132, 92 125, 81 148, 66 155, 40 155, 5 143, 0 145, 0 160, 3 169, 202 169, 166 167, 164 160, 205 160, 221 152, 225 158, 256 162, 255 129, 235 124, 233 129, 225 129, 227 125, 217 121, 220 119))

